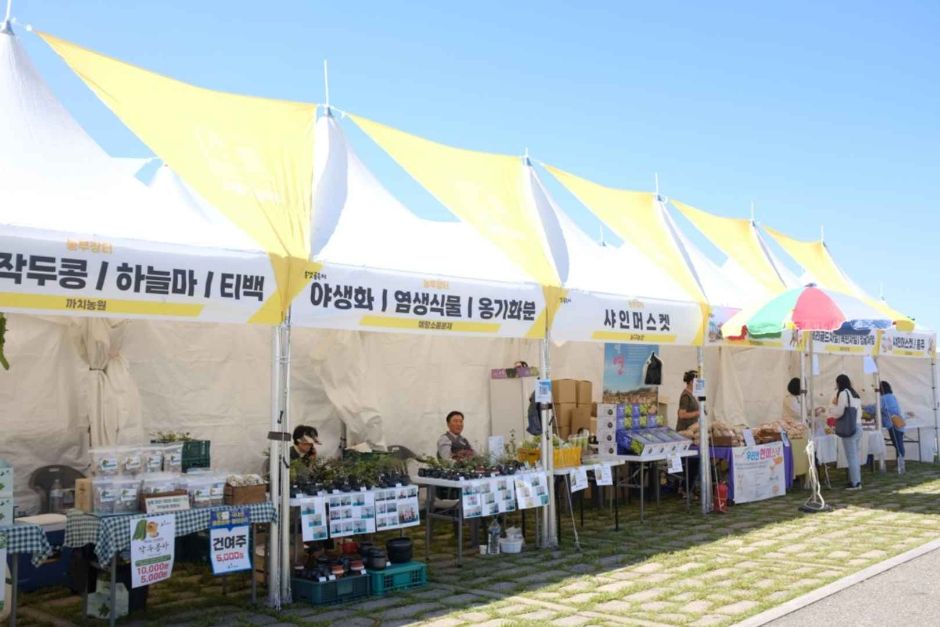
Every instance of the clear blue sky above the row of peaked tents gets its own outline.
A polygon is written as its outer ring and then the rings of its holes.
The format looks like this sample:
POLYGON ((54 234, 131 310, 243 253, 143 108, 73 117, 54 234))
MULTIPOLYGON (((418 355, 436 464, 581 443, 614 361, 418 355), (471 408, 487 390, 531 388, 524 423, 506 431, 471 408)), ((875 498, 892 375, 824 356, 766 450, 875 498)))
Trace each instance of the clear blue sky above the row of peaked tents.
MULTIPOLYGON (((213 89, 332 104, 826 242, 872 294, 940 327, 940 5, 914 2, 15 0, 22 23, 213 89)), ((149 154, 17 29, 109 152, 149 154)), ((416 212, 433 199, 352 124, 416 212)), ((548 177, 545 177, 546 179, 548 177)), ((598 227, 546 181, 589 232, 598 227)), ((688 225, 686 225, 688 226, 688 225)), ((685 229, 713 254, 720 253, 685 229)))

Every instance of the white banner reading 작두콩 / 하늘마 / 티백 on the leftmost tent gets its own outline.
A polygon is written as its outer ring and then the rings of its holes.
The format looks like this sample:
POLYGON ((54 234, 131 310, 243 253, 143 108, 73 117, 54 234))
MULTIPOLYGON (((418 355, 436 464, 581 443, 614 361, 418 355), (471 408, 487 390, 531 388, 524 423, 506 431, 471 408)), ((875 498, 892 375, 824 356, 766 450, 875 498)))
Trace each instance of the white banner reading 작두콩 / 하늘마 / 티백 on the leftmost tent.
POLYGON ((60 315, 247 322, 276 290, 268 256, 186 246, 0 235, 0 307, 60 315))

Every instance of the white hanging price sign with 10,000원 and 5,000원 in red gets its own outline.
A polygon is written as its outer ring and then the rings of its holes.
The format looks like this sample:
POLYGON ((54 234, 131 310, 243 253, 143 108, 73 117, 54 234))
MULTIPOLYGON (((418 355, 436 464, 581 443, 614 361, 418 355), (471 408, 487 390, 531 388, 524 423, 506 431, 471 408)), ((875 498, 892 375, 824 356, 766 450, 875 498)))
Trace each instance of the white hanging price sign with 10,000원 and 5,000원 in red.
POLYGON ((176 516, 142 516, 130 521, 131 587, 169 579, 176 554, 176 516))

